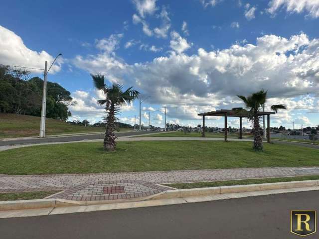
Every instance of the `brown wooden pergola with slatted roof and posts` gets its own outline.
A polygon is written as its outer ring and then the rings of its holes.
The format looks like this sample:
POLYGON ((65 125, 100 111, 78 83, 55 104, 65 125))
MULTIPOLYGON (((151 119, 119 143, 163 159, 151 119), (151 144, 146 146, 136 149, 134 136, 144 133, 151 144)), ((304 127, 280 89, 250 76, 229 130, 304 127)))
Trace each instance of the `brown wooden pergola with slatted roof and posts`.
MULTIPOLYGON (((275 112, 259 112, 259 116, 267 116, 267 142, 270 143, 270 115, 274 115, 275 112)), ((220 111, 211 111, 206 113, 200 113, 198 116, 203 117, 203 131, 202 136, 205 137, 205 116, 221 116, 225 118, 225 141, 227 141, 227 117, 238 117, 239 118, 239 138, 243 138, 242 131, 242 118, 247 118, 247 112, 236 112, 233 110, 220 110, 220 111)))

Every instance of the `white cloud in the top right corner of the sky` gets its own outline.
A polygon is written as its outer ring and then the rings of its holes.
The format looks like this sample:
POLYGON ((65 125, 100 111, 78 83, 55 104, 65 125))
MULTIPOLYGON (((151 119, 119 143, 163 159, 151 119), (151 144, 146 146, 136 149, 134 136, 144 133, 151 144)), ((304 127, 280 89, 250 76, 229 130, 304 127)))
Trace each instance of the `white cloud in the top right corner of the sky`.
POLYGON ((267 11, 275 15, 281 8, 286 8, 287 12, 301 13, 306 11, 311 17, 319 17, 318 0, 271 0, 267 11))

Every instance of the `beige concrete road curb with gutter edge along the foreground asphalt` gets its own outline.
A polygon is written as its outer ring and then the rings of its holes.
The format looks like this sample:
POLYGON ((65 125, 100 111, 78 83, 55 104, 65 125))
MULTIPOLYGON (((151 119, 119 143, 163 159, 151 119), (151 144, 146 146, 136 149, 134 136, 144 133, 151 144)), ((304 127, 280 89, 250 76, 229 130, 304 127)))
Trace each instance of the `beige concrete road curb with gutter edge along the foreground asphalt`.
MULTIPOLYGON (((229 194, 238 194, 243 196, 256 196, 249 194, 250 192, 269 192, 278 190, 285 190, 287 192, 298 191, 298 189, 305 190, 319 190, 319 180, 306 180, 306 181, 293 181, 293 182, 279 182, 279 183, 263 183, 263 184, 250 184, 250 185, 236 185, 236 186, 222 186, 222 187, 210 187, 210 188, 194 188, 194 189, 180 189, 180 190, 168 190, 161 192, 156 195, 152 195, 145 198, 138 198, 135 200, 117 200, 117 201, 87 201, 87 202, 78 202, 71 200, 63 199, 35 199, 35 200, 19 200, 19 201, 3 201, 0 202, 0 218, 7 217, 5 215, 12 215, 11 212, 17 210, 33 210, 33 209, 51 209, 50 213, 54 209, 59 209, 58 211, 67 211, 63 208, 75 208, 75 207, 102 207, 103 205, 106 208, 128 208, 128 205, 135 205, 138 203, 141 207, 143 205, 165 205, 163 202, 167 201, 169 204, 173 204, 172 201, 178 203, 186 202, 196 202, 196 201, 210 201, 212 197, 217 197, 217 199, 226 199, 229 198, 225 195, 229 194), (291 190, 292 189, 292 190, 291 190), (296 190, 294 190, 296 189, 296 190), (153 203, 152 203, 153 201, 153 203), (163 201, 163 202, 162 202, 163 201), (107 207, 106 205, 113 205, 107 207), (122 205, 122 206, 121 206, 122 205)), ((286 191, 280 191, 284 193, 286 191)), ((263 194, 261 194, 263 195, 263 194)), ((216 200, 216 199, 215 199, 216 200)), ((16 216, 15 213, 13 213, 16 216)))

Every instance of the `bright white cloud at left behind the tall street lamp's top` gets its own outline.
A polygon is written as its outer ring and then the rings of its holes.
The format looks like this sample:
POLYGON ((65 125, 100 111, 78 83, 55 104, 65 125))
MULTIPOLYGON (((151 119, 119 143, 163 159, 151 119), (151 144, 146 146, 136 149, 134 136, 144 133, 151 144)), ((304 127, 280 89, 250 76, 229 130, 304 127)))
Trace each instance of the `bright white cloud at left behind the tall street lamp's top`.
MULTIPOLYGON (((0 64, 44 69, 45 61, 50 66, 53 60, 54 57, 44 50, 37 52, 27 48, 21 37, 0 25, 0 64)), ((59 72, 62 63, 63 58, 59 57, 49 73, 59 72)), ((37 73, 41 72, 41 70, 28 70, 37 73)))

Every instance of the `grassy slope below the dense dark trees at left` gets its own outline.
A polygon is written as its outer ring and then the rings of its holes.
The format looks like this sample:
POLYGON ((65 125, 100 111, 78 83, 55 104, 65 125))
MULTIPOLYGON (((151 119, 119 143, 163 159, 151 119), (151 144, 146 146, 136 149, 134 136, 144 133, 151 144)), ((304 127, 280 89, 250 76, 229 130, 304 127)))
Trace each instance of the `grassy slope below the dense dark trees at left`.
MULTIPOLYGON (((0 138, 38 136, 39 130, 40 117, 0 114, 0 138)), ((104 127, 84 127, 57 119, 47 118, 45 124, 46 135, 101 131, 104 131, 104 127)))

